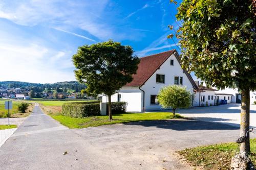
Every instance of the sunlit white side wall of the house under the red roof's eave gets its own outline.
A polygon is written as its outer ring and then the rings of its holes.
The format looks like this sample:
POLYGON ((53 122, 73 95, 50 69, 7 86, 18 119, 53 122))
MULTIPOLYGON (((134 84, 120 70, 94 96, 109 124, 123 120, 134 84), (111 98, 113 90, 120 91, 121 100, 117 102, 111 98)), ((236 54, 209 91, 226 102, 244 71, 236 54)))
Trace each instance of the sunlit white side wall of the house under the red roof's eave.
MULTIPOLYGON (((111 96, 111 102, 118 101, 118 94, 121 95, 120 102, 127 102, 126 111, 142 111, 142 91, 139 87, 123 87, 119 92, 111 96)), ((108 96, 102 96, 102 102, 108 102, 108 96)))

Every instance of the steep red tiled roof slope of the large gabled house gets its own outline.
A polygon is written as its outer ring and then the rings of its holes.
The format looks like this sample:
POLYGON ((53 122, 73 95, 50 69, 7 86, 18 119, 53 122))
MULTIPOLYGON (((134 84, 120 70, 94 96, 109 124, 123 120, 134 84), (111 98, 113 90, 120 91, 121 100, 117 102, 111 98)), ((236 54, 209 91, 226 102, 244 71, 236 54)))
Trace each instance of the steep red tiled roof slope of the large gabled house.
POLYGON ((142 86, 174 52, 175 50, 170 50, 140 58, 137 74, 133 75, 133 81, 127 83, 124 87, 142 86))

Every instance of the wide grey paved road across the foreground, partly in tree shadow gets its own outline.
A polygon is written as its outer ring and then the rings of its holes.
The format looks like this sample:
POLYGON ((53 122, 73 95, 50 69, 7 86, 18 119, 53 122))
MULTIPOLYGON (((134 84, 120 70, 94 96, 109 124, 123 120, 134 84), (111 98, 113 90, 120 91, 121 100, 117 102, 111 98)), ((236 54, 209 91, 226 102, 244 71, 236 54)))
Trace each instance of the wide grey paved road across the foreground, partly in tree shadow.
POLYGON ((190 169, 176 150, 238 136, 238 127, 183 119, 70 130, 35 106, 0 148, 0 169, 190 169))

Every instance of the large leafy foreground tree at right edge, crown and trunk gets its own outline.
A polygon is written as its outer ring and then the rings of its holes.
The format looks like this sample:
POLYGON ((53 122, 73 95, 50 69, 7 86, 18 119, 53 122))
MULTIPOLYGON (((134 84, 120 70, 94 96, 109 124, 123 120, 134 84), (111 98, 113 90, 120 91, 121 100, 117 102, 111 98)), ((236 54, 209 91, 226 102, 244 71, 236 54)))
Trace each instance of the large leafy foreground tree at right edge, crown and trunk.
MULTIPOLYGON (((251 6, 252 1, 188 0, 176 15, 182 23, 176 37, 183 69, 194 71, 207 85, 241 91, 241 136, 249 130, 249 91, 256 90, 256 15, 251 6)), ((249 138, 240 151, 249 153, 249 138)))

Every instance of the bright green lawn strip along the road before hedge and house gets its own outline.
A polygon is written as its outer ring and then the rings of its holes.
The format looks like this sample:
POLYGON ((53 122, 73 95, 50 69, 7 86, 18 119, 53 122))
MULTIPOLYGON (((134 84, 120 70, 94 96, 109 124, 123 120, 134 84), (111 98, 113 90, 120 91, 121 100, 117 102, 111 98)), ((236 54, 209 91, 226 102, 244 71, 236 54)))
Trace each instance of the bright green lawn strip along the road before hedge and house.
POLYGON ((124 113, 113 115, 113 120, 109 120, 109 116, 90 116, 84 118, 72 118, 60 114, 50 114, 54 119, 58 120, 62 125, 69 128, 88 128, 101 125, 111 125, 118 123, 139 122, 145 120, 162 120, 171 118, 182 118, 179 114, 168 112, 151 112, 151 113, 124 113))

